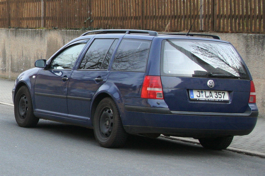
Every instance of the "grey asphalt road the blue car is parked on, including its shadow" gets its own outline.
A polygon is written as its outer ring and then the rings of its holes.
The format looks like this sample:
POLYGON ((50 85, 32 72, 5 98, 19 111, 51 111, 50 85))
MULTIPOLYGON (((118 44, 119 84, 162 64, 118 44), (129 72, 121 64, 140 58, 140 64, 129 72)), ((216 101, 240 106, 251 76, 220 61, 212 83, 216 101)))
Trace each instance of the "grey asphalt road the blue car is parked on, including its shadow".
POLYGON ((263 176, 264 168, 264 158, 161 137, 131 136, 124 148, 102 148, 91 129, 46 120, 18 127, 13 107, 0 104, 0 176, 263 176))

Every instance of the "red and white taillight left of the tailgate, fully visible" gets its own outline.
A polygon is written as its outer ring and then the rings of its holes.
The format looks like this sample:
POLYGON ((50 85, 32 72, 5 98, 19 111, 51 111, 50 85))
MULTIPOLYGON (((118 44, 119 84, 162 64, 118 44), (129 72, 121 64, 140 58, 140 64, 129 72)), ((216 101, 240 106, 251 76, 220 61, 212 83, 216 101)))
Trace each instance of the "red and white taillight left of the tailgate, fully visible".
POLYGON ((164 99, 160 76, 145 76, 141 98, 164 99))

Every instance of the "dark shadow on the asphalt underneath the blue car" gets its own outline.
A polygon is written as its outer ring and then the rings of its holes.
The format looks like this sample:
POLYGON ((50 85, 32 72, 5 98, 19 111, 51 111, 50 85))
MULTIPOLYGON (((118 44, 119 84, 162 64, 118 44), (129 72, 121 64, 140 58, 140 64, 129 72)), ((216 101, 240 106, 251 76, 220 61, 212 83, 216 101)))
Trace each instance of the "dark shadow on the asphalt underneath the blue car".
MULTIPOLYGON (((58 122, 41 120, 34 130, 52 133, 61 138, 71 138, 76 141, 86 142, 86 145, 97 145, 93 129, 78 127, 58 122)), ((102 148, 106 150, 106 148, 102 148)), ((158 137, 156 139, 139 135, 129 135, 127 142, 122 148, 109 148, 112 151, 136 152, 161 154, 164 156, 225 156, 229 151, 214 151, 203 148, 199 144, 183 142, 180 140, 158 137)))

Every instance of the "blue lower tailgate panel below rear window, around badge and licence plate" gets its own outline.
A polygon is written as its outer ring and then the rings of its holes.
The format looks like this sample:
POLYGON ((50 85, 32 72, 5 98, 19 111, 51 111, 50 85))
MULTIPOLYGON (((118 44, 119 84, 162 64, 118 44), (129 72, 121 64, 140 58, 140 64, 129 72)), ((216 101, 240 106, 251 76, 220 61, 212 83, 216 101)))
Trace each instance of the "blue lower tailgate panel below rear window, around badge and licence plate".
POLYGON ((243 113, 248 107, 247 80, 161 76, 161 81, 171 111, 243 113), (214 88, 207 85, 209 80, 214 81, 214 88), (194 92, 200 97, 192 98, 191 90, 202 91, 201 95, 194 92), (228 100, 224 94, 228 94, 228 100))

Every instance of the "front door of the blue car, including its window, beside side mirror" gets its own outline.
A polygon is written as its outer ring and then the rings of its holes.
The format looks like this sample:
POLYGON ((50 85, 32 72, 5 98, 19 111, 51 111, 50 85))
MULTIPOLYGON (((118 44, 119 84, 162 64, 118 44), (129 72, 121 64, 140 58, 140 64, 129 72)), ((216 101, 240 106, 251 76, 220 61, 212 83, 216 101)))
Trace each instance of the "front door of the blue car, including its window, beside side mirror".
POLYGON ((35 111, 67 117, 67 86, 73 66, 87 40, 65 47, 50 61, 48 69, 41 69, 35 82, 35 111))

